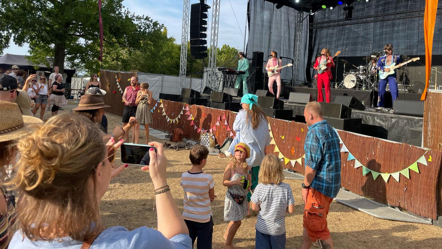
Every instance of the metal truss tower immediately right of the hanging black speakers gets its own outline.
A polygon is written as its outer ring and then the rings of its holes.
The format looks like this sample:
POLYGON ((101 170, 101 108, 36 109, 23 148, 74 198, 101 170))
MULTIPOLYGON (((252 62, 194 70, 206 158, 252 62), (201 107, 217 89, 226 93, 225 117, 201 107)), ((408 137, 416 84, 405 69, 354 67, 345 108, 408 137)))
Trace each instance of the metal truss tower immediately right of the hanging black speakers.
POLYGON ((220 19, 221 0, 213 0, 212 24, 210 34, 209 71, 207 72, 207 85, 212 90, 218 90, 217 83, 217 48, 218 48, 218 27, 220 19))

